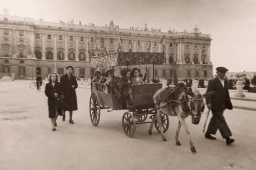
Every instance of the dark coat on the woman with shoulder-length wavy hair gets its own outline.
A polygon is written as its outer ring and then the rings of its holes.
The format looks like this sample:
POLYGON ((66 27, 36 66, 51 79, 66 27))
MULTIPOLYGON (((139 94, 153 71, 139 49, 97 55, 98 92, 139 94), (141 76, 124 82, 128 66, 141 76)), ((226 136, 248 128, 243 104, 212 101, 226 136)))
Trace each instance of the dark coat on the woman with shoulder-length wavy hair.
MULTIPOLYGON (((56 116, 57 98, 54 96, 54 93, 58 93, 58 97, 63 93, 61 83, 56 82, 54 87, 52 86, 52 83, 47 83, 45 87, 45 94, 48 97, 48 111, 50 118, 56 116)), ((58 114, 62 115, 62 109, 57 109, 57 111, 58 114)))

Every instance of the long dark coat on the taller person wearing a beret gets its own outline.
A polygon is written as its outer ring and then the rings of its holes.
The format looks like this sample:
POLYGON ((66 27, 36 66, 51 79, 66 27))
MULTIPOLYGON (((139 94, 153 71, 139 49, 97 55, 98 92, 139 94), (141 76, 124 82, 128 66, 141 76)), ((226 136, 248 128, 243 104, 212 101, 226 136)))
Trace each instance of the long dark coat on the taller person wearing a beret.
POLYGON ((65 94, 66 111, 77 110, 76 88, 78 87, 76 77, 71 74, 70 79, 67 74, 61 77, 61 85, 65 94), (71 86, 75 85, 75 88, 71 86))

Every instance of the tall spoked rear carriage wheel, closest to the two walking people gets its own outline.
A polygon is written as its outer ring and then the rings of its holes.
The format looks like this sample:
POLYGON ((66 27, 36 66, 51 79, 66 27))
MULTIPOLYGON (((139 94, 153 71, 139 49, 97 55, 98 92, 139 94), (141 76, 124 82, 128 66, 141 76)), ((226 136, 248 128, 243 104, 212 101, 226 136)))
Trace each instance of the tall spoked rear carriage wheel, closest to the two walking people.
POLYGON ((97 126, 100 122, 100 104, 95 93, 90 97, 90 118, 93 126, 97 126))

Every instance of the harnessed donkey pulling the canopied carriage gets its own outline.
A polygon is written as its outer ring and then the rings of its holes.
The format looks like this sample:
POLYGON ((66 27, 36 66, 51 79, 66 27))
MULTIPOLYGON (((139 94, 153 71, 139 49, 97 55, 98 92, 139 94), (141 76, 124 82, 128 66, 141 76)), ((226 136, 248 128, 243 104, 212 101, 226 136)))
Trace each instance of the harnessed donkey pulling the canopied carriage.
MULTIPOLYGON (((159 89, 154 94, 154 99, 156 99, 159 96, 159 94, 163 91, 164 91, 163 89, 159 89)), ((176 145, 181 146, 181 143, 178 137, 179 137, 181 125, 183 125, 186 135, 189 138, 191 152, 196 153, 195 146, 190 138, 190 132, 185 122, 185 118, 191 115, 192 123, 198 124, 200 122, 201 113, 204 109, 203 98, 208 97, 213 93, 214 92, 208 92, 201 95, 199 92, 193 93, 193 92, 185 91, 184 89, 176 91, 176 94, 172 96, 174 97, 174 99, 169 99, 170 104, 166 104, 166 101, 159 102, 159 109, 157 109, 157 113, 156 113, 157 116, 155 116, 152 119, 152 122, 149 128, 149 134, 152 134, 153 124, 157 120, 163 141, 166 141, 165 134, 163 132, 162 114, 166 114, 167 116, 178 116, 179 123, 178 123, 178 128, 175 134, 176 145)))

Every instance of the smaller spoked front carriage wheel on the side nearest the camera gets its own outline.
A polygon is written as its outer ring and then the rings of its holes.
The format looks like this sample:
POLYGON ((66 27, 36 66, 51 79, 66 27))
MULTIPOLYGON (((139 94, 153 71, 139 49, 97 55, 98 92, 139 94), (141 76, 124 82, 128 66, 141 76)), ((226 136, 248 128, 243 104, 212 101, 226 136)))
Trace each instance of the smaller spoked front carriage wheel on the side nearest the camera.
POLYGON ((132 137, 136 131, 136 121, 130 112, 125 112, 122 116, 122 128, 126 136, 132 137))

